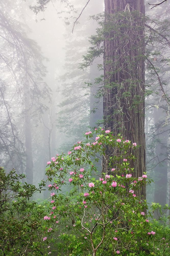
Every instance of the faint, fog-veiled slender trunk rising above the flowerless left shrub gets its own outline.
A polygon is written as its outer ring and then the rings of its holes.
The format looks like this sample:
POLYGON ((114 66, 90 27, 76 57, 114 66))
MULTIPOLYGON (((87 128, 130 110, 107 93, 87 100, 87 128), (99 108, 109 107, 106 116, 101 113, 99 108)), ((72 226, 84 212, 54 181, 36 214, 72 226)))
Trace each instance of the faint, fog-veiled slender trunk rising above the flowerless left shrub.
POLYGON ((29 85, 24 85, 24 118, 25 118, 25 146, 26 146, 26 175, 27 182, 33 184, 33 158, 31 136, 31 104, 29 85))

